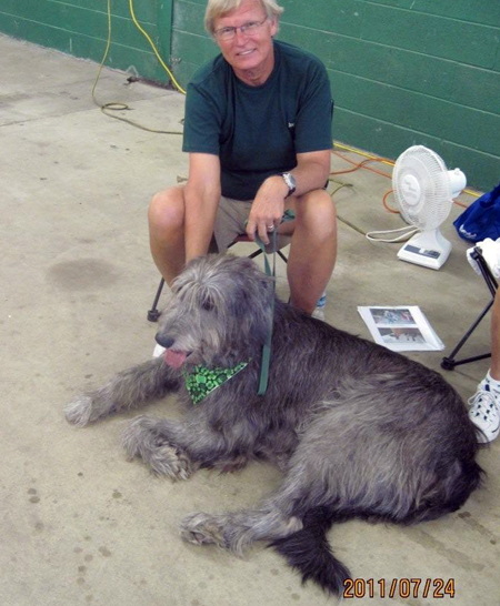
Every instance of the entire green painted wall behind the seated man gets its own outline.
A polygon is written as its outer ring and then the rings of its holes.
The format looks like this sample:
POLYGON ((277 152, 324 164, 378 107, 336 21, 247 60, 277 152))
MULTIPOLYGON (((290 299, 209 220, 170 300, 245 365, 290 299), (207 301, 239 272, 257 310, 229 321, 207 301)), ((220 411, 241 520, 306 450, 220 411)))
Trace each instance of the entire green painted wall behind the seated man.
MULTIPOLYGON (((333 137, 397 158, 427 144, 482 190, 500 179, 500 1, 281 0, 279 38, 322 59, 336 99, 333 137)), ((107 0, 0 0, 0 31, 100 61, 107 0)), ((140 23, 186 87, 217 46, 206 0, 133 0, 140 23)), ((108 64, 168 81, 112 0, 108 64)))

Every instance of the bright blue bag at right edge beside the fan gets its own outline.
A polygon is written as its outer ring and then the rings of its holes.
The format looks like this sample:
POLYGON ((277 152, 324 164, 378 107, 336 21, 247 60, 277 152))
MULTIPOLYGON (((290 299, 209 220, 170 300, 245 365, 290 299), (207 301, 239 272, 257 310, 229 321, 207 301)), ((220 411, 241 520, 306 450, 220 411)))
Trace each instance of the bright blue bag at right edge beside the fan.
POLYGON ((500 183, 489 193, 478 198, 453 221, 457 233, 463 240, 481 242, 487 238, 500 238, 500 183))

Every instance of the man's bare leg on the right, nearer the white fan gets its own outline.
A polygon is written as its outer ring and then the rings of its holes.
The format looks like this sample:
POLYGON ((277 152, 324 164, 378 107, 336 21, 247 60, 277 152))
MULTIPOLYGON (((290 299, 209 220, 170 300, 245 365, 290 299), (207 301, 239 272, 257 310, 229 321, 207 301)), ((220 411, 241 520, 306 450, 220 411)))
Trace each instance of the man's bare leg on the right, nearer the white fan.
POLYGON ((313 190, 297 199, 294 211, 287 269, 290 303, 311 314, 336 263, 336 208, 327 191, 313 190))

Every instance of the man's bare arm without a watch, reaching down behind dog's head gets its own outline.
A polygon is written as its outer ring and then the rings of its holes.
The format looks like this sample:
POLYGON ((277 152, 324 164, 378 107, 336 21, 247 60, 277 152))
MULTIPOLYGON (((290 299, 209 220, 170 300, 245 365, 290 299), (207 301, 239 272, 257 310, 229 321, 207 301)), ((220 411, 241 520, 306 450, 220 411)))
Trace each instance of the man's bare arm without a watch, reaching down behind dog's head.
POLYGON ((184 188, 186 262, 207 254, 220 201, 220 161, 210 153, 189 154, 184 188))

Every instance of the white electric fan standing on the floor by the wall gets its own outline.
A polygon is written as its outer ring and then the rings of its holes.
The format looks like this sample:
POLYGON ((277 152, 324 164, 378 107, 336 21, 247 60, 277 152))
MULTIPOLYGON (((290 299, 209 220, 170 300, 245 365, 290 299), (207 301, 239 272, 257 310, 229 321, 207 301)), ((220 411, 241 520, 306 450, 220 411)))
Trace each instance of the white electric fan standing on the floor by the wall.
POLYGON ((398 158, 392 172, 394 196, 403 219, 419 230, 400 249, 399 259, 432 270, 441 267, 451 244, 439 226, 466 184, 460 169, 449 171, 442 159, 423 145, 413 145, 398 158))

